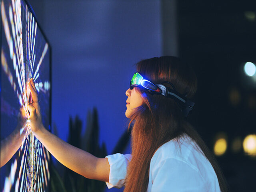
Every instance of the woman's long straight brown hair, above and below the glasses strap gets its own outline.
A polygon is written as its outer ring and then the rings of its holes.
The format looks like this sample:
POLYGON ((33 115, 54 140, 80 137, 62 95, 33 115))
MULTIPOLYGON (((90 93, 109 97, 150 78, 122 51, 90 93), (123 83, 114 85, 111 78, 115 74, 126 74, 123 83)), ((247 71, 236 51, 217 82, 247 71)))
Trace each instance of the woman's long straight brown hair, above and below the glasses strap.
MULTIPOLYGON (((196 92, 195 73, 190 66, 176 57, 162 56, 142 60, 137 63, 137 71, 155 84, 171 82, 176 90, 186 94, 187 98, 192 98, 196 92)), ((169 84, 164 85, 170 87, 169 84)), ((135 89, 142 95, 143 104, 135 108, 130 116, 128 127, 132 125, 132 160, 128 166, 124 192, 146 192, 152 156, 162 144, 179 138, 183 133, 188 134, 197 143, 212 164, 221 191, 228 191, 226 180, 212 152, 183 117, 178 104, 171 98, 152 95, 138 87, 135 89)))

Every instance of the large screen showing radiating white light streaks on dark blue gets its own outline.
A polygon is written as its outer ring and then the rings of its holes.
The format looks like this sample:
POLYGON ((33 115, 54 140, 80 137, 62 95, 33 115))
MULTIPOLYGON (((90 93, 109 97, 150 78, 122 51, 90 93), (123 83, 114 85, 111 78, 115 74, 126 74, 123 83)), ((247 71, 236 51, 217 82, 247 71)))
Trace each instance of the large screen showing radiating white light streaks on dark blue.
MULTIPOLYGON (((28 5, 23 0, 1 1, 1 131, 10 126, 20 107, 29 102, 27 83, 34 78, 42 121, 50 125, 50 50, 28 5), (8 85, 7 83, 8 82, 8 85)), ((49 186, 49 152, 32 134, 28 122, 22 146, 11 159, 3 192, 46 192, 49 186)), ((14 128, 13 128, 14 129, 14 128)), ((1 138, 2 139, 2 138, 1 138)), ((2 175, 2 173, 1 173, 2 175)))

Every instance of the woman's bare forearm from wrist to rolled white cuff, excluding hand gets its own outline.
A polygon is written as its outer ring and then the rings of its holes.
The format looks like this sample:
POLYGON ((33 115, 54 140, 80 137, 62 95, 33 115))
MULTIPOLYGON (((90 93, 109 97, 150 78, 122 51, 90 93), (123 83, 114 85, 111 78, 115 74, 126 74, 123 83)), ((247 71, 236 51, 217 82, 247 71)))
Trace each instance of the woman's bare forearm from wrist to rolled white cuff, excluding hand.
POLYGON ((64 142, 45 128, 34 135, 46 149, 64 166, 90 179, 108 181, 109 164, 106 158, 97 158, 92 154, 64 142))

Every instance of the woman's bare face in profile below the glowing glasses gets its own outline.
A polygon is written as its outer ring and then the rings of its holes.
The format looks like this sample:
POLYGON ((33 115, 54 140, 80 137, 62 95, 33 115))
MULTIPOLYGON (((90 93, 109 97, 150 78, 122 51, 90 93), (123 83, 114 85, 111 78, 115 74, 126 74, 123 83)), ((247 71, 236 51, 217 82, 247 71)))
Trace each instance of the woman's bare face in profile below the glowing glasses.
POLYGON ((125 112, 125 116, 129 118, 131 114, 131 110, 133 108, 141 106, 143 103, 143 100, 142 100, 141 94, 138 91, 136 91, 136 88, 133 88, 132 90, 130 90, 129 88, 128 90, 126 90, 125 94, 126 96, 128 96, 126 100, 127 109, 125 112))

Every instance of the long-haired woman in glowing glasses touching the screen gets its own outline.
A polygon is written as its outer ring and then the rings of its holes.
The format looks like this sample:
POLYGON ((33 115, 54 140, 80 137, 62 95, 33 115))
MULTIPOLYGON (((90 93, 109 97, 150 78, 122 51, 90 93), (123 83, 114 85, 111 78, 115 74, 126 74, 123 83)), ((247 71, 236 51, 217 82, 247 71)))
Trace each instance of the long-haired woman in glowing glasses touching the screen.
MULTIPOLYGON (((197 80, 176 57, 163 56, 137 64, 126 117, 132 124, 132 154, 97 158, 48 132, 38 102, 28 105, 33 134, 62 164, 86 178, 105 181, 125 192, 226 192, 214 156, 186 121, 194 103, 197 80)), ((29 88, 38 101, 31 79, 29 88)))

